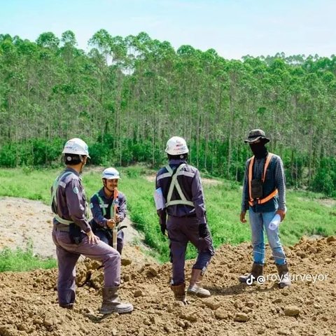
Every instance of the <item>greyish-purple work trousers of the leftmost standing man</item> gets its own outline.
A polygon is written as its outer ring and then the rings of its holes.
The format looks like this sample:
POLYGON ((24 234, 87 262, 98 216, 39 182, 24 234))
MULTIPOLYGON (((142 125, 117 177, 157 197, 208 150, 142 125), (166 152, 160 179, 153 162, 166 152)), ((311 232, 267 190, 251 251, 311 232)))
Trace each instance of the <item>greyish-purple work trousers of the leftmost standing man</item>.
POLYGON ((56 245, 58 279, 57 293, 59 304, 73 304, 76 297, 76 262, 81 254, 85 257, 102 262, 104 267, 104 286, 120 285, 121 258, 118 251, 111 246, 99 241, 90 244, 87 235, 83 233, 80 244, 70 241, 69 232, 62 228, 52 230, 52 240, 56 245))

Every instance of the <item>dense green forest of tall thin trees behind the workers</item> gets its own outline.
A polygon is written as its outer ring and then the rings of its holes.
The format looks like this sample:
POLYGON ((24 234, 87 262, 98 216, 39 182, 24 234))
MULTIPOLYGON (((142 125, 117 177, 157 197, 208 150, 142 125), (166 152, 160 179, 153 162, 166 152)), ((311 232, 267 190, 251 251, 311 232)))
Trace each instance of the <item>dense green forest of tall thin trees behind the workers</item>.
POLYGON ((214 49, 112 36, 90 51, 76 36, 36 41, 0 34, 0 166, 59 165, 67 139, 89 144, 94 165, 165 162, 169 137, 189 161, 241 181, 248 130, 262 128, 281 155, 288 186, 336 197, 336 56, 224 59, 214 49))

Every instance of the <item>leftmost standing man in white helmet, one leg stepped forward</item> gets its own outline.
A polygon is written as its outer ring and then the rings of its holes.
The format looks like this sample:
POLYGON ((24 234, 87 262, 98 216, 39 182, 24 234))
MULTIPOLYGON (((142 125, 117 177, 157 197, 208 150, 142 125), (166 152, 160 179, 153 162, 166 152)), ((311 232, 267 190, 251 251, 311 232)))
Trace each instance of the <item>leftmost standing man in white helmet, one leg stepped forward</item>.
POLYGON ((66 142, 64 150, 66 169, 52 186, 53 220, 52 239, 58 261, 57 292, 59 306, 72 309, 76 293, 76 262, 80 254, 102 262, 104 288, 102 314, 128 313, 130 303, 120 302, 120 254, 95 236, 87 221, 86 196, 80 174, 90 158, 87 144, 78 138, 66 142))

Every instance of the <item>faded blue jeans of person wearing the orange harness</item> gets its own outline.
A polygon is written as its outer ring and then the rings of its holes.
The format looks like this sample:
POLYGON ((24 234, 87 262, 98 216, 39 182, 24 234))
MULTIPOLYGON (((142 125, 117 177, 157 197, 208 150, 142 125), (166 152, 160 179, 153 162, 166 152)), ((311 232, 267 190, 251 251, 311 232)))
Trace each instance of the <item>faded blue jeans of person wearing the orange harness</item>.
POLYGON ((276 211, 254 212, 252 209, 248 210, 252 232, 253 260, 260 265, 265 263, 264 230, 266 230, 267 239, 269 246, 272 248, 275 263, 278 265, 286 264, 286 255, 281 246, 279 228, 276 228, 276 230, 269 230, 268 228, 275 213, 276 211))

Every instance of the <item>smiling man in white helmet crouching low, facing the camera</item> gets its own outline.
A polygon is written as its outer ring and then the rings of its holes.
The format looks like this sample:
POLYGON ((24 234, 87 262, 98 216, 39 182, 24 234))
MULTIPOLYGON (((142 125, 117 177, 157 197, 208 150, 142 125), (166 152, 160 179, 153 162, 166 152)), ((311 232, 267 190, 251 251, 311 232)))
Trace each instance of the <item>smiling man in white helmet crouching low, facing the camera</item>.
POLYGON ((103 188, 95 193, 90 200, 92 221, 90 225, 94 235, 104 243, 113 246, 121 254, 124 246, 124 232, 121 222, 126 217, 126 197, 118 190, 120 174, 117 169, 106 168, 102 174, 103 188), (118 233, 117 233, 118 232, 118 233), (113 237, 116 235, 116 237, 113 237))

